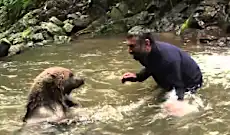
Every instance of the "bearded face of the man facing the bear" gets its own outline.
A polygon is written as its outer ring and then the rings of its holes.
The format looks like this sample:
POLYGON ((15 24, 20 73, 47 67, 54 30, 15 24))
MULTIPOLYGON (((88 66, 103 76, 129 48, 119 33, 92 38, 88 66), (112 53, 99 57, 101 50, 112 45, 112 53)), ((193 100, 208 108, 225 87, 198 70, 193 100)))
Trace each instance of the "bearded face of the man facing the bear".
POLYGON ((128 46, 128 52, 133 55, 134 59, 142 59, 150 51, 150 43, 143 43, 142 45, 137 43, 137 38, 132 37, 126 39, 126 44, 128 46))

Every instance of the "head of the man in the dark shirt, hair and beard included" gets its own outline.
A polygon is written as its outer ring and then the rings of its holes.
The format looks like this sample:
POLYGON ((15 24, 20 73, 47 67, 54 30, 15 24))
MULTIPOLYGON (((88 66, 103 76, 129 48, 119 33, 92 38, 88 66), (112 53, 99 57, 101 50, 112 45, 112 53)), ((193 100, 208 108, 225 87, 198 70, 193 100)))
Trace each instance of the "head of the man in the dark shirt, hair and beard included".
POLYGON ((149 54, 155 42, 150 30, 136 26, 128 31, 126 44, 134 59, 142 59, 149 54))

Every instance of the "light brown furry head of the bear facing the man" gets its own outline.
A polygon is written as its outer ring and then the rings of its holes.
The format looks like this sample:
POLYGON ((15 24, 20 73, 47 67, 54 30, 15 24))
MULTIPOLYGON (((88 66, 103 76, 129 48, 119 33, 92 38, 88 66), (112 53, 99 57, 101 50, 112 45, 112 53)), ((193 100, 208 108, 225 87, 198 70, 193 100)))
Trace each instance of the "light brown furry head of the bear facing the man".
POLYGON ((83 84, 84 79, 76 76, 70 69, 50 67, 35 78, 32 90, 38 90, 49 98, 60 99, 60 96, 69 95, 73 89, 83 84))

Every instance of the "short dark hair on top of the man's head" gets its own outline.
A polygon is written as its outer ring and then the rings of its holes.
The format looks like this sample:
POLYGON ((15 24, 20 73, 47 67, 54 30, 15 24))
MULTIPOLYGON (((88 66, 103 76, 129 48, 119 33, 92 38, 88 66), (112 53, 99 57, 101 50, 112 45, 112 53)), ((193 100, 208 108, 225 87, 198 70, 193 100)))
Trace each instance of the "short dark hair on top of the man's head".
POLYGON ((155 44, 152 31, 150 29, 143 28, 141 26, 135 26, 128 31, 126 38, 130 39, 133 37, 137 37, 137 43, 140 45, 145 43, 145 39, 149 39, 151 44, 155 44))

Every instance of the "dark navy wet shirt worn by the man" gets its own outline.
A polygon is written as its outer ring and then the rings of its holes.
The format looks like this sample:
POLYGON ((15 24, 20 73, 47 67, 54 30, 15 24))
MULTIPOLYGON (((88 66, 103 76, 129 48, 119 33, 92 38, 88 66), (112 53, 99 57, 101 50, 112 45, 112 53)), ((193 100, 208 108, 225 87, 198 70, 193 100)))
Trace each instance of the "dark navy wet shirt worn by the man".
POLYGON ((156 42, 147 57, 138 60, 145 68, 137 73, 142 82, 152 76, 166 90, 176 89, 178 99, 184 98, 186 88, 202 83, 198 64, 180 48, 165 42, 156 42))

